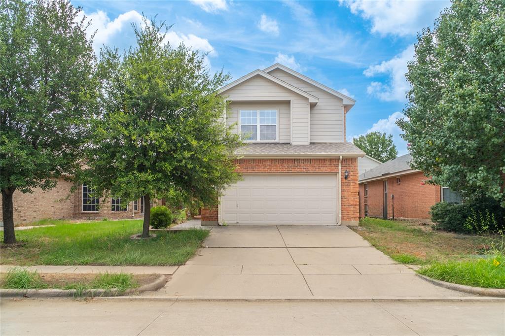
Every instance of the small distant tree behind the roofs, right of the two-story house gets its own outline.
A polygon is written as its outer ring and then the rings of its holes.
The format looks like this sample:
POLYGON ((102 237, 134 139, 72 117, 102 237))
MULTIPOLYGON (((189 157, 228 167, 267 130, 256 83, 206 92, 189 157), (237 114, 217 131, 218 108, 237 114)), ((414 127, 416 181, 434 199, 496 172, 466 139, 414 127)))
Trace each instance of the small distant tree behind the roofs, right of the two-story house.
POLYGON ((370 132, 352 139, 352 142, 367 155, 381 162, 386 162, 398 155, 391 134, 386 136, 386 133, 370 132))

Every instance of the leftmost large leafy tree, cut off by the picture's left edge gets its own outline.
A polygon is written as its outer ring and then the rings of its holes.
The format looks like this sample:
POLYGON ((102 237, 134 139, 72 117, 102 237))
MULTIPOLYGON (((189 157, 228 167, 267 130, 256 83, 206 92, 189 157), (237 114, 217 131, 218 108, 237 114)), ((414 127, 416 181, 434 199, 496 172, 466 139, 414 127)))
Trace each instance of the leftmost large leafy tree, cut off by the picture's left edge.
POLYGON ((0 187, 4 242, 15 243, 13 193, 73 175, 96 101, 96 61, 80 9, 0 2, 0 187))

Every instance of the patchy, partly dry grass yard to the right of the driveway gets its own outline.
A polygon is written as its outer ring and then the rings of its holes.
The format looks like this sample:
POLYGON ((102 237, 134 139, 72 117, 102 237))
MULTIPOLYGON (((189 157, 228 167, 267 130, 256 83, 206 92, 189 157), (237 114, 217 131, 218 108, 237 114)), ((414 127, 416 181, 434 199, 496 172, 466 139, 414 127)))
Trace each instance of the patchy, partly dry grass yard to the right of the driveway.
POLYGON ((413 222, 368 217, 353 230, 393 260, 422 265, 420 274, 461 285, 505 288, 499 236, 453 234, 413 222))

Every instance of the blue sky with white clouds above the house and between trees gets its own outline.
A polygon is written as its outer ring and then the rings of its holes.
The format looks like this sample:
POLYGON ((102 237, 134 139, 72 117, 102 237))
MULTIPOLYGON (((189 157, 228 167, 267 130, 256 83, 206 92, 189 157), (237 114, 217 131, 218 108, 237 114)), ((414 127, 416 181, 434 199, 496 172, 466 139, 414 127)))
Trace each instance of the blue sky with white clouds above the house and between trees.
POLYGON ((446 0, 291 1, 72 1, 96 30, 94 47, 135 43, 131 23, 142 13, 173 24, 172 45, 209 52, 211 70, 237 79, 282 63, 354 97, 347 138, 381 131, 407 153, 394 122, 409 88, 403 75, 416 33, 433 25, 446 0))

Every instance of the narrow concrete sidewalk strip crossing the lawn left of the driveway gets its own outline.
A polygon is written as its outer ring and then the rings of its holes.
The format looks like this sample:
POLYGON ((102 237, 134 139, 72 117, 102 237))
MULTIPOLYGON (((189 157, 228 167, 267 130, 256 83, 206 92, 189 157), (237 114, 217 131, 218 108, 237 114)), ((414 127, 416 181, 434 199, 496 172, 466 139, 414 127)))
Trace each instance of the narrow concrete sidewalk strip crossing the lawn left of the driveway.
POLYGON ((13 267, 22 267, 39 273, 131 273, 131 274, 173 274, 178 266, 12 266, 0 265, 0 272, 7 273, 13 267))

